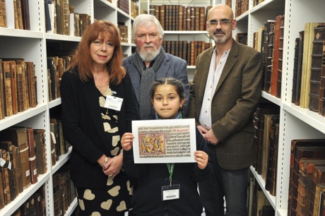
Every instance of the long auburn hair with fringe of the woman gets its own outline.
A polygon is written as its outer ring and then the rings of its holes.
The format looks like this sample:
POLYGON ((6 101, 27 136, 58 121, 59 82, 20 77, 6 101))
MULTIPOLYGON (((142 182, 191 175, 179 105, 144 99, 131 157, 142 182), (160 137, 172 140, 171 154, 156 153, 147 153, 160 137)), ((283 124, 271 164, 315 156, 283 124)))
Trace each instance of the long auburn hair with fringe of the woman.
POLYGON ((126 74, 122 67, 121 37, 119 29, 109 21, 97 20, 83 32, 76 54, 74 54, 67 70, 72 71, 77 66, 83 82, 93 79, 93 59, 90 56, 90 44, 98 40, 99 37, 101 40, 108 40, 114 44, 114 53, 112 59, 107 62, 107 68, 110 73, 110 83, 119 84, 126 74))

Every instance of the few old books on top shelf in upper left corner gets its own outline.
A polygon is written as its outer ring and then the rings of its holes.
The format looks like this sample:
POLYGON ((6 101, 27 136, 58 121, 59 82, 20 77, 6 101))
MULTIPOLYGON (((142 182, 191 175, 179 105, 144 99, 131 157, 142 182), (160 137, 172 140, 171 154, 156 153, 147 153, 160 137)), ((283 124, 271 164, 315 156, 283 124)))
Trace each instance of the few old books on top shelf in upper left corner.
MULTIPOLYGON (((30 30, 29 0, 13 0, 13 16, 15 28, 30 30)), ((0 1, 0 27, 7 26, 7 13, 5 0, 0 1)))

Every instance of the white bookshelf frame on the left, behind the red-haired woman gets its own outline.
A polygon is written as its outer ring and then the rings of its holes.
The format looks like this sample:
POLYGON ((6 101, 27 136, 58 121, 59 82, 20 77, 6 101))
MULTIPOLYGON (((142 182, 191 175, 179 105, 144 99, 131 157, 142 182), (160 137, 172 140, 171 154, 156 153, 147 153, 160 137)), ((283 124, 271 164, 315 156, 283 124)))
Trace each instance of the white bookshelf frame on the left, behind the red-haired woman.
MULTIPOLYGON (((107 0, 69 0, 69 5, 74 6, 75 12, 90 15, 91 23, 93 23, 94 19, 110 20, 115 25, 125 23, 128 40, 122 43, 122 49, 125 55, 130 55, 135 49, 135 45, 131 43, 131 23, 134 19, 131 16, 131 1, 132 4, 140 6, 140 1, 129 0, 129 13, 117 6, 117 0, 111 2, 107 0)), ((0 215, 12 215, 41 186, 45 188, 46 214, 54 215, 52 176, 69 160, 71 148, 68 153, 61 155, 59 161, 52 167, 49 119, 51 110, 61 104, 61 99, 49 99, 47 56, 72 53, 81 37, 47 32, 45 30, 45 4, 43 0, 29 0, 30 30, 15 29, 13 1, 5 0, 4 2, 6 5, 7 27, 0 28, 0 59, 23 58, 25 61, 33 61, 35 75, 37 76, 37 107, 1 119, 0 131, 11 126, 45 129, 47 173, 41 174, 36 184, 32 184, 23 193, 20 193, 15 200, 2 208, 0 215), (53 49, 53 47, 56 49, 53 49)), ((65 215, 71 215, 76 205, 77 201, 75 199, 65 215)))

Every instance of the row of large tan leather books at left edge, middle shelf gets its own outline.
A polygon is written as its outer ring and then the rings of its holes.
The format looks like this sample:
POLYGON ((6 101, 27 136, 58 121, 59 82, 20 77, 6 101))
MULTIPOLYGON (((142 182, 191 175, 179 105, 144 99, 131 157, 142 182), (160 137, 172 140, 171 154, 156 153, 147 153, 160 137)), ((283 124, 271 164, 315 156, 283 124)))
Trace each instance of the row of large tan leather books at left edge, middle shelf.
POLYGON ((0 59, 0 119, 37 106, 35 64, 0 59))

